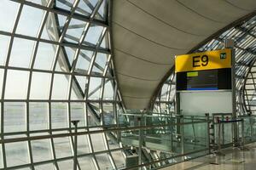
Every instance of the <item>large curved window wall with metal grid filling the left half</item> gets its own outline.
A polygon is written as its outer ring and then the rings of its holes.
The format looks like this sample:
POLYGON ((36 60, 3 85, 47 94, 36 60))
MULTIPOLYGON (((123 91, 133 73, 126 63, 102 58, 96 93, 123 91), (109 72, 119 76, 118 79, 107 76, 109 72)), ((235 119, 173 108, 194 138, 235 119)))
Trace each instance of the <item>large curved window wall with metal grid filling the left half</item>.
POLYGON ((1 0, 0 8, 0 168, 73 169, 74 139, 62 135, 73 120, 85 132, 79 169, 124 167, 115 134, 93 133, 116 125, 121 104, 108 0, 1 0))

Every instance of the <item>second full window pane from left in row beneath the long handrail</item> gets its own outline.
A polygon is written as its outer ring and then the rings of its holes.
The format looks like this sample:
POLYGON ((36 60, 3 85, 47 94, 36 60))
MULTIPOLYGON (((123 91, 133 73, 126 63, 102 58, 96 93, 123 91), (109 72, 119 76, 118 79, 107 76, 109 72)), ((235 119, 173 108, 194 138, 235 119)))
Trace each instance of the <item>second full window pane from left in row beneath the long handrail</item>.
POLYGON ((49 139, 32 140, 31 144, 34 162, 47 161, 52 159, 49 139))

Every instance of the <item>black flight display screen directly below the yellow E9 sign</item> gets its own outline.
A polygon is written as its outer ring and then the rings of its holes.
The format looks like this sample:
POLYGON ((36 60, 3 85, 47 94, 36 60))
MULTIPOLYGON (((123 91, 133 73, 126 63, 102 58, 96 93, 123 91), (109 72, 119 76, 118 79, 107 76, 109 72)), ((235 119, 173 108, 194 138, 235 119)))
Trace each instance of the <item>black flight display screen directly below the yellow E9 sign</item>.
POLYGON ((177 72, 177 90, 231 89, 231 69, 177 72))

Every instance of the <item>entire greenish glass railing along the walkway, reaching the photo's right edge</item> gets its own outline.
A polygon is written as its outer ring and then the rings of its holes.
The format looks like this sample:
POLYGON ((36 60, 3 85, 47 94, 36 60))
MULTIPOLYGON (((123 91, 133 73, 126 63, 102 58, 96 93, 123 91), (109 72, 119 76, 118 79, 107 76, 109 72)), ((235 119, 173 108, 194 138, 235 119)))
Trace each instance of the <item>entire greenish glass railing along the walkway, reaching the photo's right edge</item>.
MULTIPOLYGON (((173 113, 167 115, 152 112, 123 113, 119 115, 120 141, 124 146, 133 146, 137 153, 140 147, 142 150, 150 150, 148 155, 146 153, 142 155, 143 165, 138 165, 151 166, 150 168, 154 168, 154 165, 159 163, 171 165, 205 156, 212 152, 212 143, 211 147, 209 146, 210 139, 213 139, 215 144, 221 144, 221 149, 234 145, 232 133, 234 126, 238 127, 237 140, 240 146, 255 142, 256 116, 239 116, 236 119, 231 117, 231 113, 219 113, 214 116, 180 116, 173 113), (220 133, 218 133, 219 126, 220 133), (158 151, 159 157, 149 156, 152 150, 158 151)), ((213 150, 216 151, 216 148, 213 150)))

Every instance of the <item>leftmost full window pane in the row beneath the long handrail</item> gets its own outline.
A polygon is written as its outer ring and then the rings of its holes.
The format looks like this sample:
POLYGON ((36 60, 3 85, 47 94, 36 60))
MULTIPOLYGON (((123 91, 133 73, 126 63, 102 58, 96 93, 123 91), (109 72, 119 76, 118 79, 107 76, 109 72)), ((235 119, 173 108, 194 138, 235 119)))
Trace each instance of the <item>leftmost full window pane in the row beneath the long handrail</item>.
POLYGON ((29 163, 27 142, 5 144, 7 167, 29 163))

